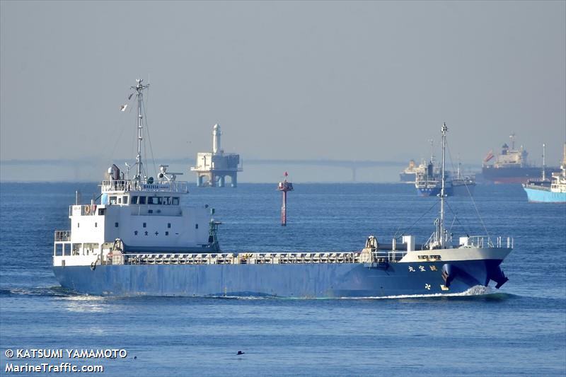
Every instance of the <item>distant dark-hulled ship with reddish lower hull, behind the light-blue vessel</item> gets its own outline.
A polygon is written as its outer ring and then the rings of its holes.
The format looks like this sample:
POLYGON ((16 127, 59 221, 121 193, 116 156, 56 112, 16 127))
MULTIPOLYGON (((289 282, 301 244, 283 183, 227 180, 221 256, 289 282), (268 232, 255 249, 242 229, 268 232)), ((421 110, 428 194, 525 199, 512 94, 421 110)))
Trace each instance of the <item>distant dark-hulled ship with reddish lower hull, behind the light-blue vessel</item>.
MULTIPOLYGON (((511 148, 503 144, 501 154, 495 156, 493 151, 487 153, 483 159, 482 174, 483 178, 495 183, 526 183, 529 179, 541 176, 541 169, 527 163, 529 153, 521 146, 515 149, 515 134, 511 138, 511 148), (489 162, 495 158, 495 162, 489 162)), ((545 168, 545 173, 550 176, 558 168, 545 168)))

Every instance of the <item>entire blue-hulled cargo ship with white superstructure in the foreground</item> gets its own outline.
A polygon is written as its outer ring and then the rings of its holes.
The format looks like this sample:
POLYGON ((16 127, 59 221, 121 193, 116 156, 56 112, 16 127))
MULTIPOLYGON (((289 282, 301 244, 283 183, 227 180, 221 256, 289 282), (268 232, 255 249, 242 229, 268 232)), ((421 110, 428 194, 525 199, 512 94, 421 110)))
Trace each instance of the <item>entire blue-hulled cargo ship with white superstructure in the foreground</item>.
MULTIPOLYGON (((185 206, 187 183, 160 166, 148 177, 141 158, 143 91, 137 80, 135 175, 112 165, 100 197, 69 207, 71 229, 55 231, 53 270, 66 289, 96 295, 275 296, 294 298, 458 294, 507 282, 500 265, 512 238, 464 236, 444 227, 444 148, 440 212, 432 236, 380 244, 369 236, 355 251, 223 253, 207 205, 185 206)), ((133 93, 132 93, 133 95, 133 93)), ((131 96, 130 96, 131 97, 131 96)))

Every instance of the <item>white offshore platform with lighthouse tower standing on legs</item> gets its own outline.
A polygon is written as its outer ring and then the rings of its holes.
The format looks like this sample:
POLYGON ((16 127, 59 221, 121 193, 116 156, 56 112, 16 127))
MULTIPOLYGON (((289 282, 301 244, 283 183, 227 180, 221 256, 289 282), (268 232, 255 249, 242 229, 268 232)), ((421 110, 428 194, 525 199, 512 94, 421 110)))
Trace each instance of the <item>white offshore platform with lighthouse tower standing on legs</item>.
POLYGON ((238 185, 238 171, 242 171, 240 155, 224 153, 220 147, 220 124, 212 127, 212 152, 197 153, 197 166, 190 171, 197 173, 197 186, 224 187, 226 177, 230 178, 232 187, 238 185))

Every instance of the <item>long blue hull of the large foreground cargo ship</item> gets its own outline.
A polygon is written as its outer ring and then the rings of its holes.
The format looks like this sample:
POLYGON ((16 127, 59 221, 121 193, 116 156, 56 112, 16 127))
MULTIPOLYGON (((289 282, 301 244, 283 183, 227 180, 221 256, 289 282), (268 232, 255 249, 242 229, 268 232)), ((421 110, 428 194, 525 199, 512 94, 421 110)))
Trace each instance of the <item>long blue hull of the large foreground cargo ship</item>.
POLYGON ((441 289, 446 262, 385 265, 102 265, 54 267, 59 283, 83 294, 112 296, 379 297, 461 293, 487 286, 501 260, 449 262, 456 271, 441 289))

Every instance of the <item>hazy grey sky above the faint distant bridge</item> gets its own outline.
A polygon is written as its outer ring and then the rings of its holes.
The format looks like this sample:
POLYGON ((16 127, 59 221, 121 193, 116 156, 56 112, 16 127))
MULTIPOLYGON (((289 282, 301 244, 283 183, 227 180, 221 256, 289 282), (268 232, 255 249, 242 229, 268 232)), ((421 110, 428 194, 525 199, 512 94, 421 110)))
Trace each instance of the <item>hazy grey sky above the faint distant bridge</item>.
MULTIPOLYGON (((1 1, 0 158, 133 157, 118 111, 149 78, 156 156, 480 163, 566 141, 566 1, 1 1)), ((100 173, 101 174, 101 173, 100 173)), ((192 179, 192 178, 191 178, 192 179)), ((246 180, 245 176, 241 180, 246 180)))

